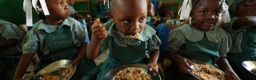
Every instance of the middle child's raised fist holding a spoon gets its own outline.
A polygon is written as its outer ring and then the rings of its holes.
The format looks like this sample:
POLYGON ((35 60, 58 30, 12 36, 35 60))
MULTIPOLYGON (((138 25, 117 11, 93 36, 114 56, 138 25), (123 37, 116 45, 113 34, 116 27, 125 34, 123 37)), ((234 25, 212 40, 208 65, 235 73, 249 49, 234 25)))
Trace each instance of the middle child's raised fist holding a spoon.
POLYGON ((105 27, 100 22, 99 18, 97 18, 94 22, 94 25, 91 26, 91 30, 93 32, 93 37, 96 37, 99 40, 102 40, 107 37, 105 27))

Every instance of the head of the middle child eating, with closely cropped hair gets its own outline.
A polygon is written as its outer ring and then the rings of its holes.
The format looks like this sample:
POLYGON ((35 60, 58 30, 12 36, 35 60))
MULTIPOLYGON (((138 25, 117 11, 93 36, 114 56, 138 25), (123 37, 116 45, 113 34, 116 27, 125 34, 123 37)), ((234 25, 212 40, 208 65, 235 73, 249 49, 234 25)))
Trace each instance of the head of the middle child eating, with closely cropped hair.
POLYGON ((110 7, 110 18, 125 35, 134 35, 146 26, 146 0, 116 0, 110 7))

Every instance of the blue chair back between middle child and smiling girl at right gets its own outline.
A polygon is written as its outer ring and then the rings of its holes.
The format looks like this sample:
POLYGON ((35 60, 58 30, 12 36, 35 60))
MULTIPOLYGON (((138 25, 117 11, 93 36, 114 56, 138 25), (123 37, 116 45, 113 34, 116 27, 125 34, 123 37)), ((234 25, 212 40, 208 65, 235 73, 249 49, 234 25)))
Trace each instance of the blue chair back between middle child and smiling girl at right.
POLYGON ((168 45, 168 36, 169 36, 169 25, 166 23, 161 23, 159 25, 158 38, 161 39, 162 44, 159 46, 160 54, 158 62, 163 63, 166 56, 166 48, 168 45))

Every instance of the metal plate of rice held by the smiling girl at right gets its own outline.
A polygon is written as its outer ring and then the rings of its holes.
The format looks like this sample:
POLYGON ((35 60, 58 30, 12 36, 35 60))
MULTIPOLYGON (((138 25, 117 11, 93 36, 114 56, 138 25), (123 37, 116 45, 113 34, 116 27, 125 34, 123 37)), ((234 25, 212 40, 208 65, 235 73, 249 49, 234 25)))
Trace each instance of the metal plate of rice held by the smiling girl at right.
POLYGON ((195 78, 199 80, 224 80, 224 72, 219 70, 216 66, 194 59, 191 61, 194 62, 196 66, 190 66, 192 70, 188 69, 188 71, 195 78))

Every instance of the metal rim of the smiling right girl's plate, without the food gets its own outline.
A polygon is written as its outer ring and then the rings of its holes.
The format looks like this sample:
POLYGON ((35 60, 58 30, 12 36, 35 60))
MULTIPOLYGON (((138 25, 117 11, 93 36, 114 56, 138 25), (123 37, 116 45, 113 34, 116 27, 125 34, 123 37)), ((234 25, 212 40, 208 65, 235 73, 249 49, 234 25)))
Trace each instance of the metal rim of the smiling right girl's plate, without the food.
MULTIPOLYGON (((222 70, 220 70, 220 69, 218 69, 218 67, 216 67, 216 66, 212 66, 212 65, 210 65, 210 64, 208 64, 208 63, 206 63, 206 62, 202 62, 202 61, 198 61, 198 60, 195 60, 195 59, 191 59, 190 60, 191 62, 194 62, 195 64, 197 64, 197 65, 204 65, 204 66, 210 66, 210 67, 212 67, 214 70, 217 70, 219 73, 220 73, 220 75, 222 76, 222 78, 225 78, 224 77, 224 75, 225 75, 225 73, 222 71, 222 70)), ((187 69, 189 72, 190 72, 190 74, 191 75, 193 75, 191 72, 191 70, 189 70, 189 69, 187 69)), ((193 75, 194 76, 194 75, 193 75)), ((197 78, 196 76, 194 76, 195 78, 197 78)), ((198 78, 198 79, 200 79, 200 78, 198 78)))

